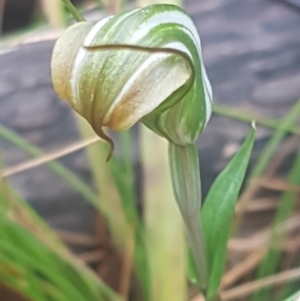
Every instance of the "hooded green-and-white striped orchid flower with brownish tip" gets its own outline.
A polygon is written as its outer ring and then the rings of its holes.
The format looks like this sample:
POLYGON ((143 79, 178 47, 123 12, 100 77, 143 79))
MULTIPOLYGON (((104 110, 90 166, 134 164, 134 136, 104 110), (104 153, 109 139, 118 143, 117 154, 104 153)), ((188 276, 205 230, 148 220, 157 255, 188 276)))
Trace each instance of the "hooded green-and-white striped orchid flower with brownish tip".
POLYGON ((111 144, 104 126, 122 131, 140 120, 168 141, 188 145, 211 115, 197 30, 173 5, 69 27, 51 67, 58 95, 111 144))

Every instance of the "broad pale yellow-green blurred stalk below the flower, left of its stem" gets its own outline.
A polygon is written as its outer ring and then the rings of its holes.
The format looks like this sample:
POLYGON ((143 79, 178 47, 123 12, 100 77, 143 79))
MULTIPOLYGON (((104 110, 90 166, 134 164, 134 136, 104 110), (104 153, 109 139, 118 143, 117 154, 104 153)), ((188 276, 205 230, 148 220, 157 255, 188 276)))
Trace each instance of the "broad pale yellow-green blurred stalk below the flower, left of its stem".
POLYGON ((152 301, 187 298, 186 245, 174 200, 167 141, 140 127, 146 239, 152 274, 152 301))

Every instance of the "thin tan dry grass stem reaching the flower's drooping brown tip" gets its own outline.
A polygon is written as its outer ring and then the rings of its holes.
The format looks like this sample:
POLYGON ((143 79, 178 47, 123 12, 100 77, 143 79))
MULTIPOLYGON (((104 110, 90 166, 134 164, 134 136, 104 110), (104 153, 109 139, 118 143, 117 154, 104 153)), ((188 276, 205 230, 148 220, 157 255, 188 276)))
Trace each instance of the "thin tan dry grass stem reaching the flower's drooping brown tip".
POLYGON ((41 166, 47 162, 59 159, 61 157, 64 157, 64 156, 74 153, 76 151, 79 151, 79 150, 81 150, 93 143, 99 142, 99 141, 102 141, 102 139, 99 138, 98 136, 95 136, 95 137, 92 137, 92 138, 89 138, 89 139, 86 139, 83 141, 76 142, 76 143, 68 145, 62 149, 53 151, 49 154, 45 154, 44 156, 42 156, 40 158, 31 159, 31 160, 22 162, 21 164, 17 164, 15 166, 8 167, 2 171, 0 176, 3 178, 9 177, 9 176, 15 175, 17 173, 23 172, 25 170, 29 170, 34 167, 41 166))

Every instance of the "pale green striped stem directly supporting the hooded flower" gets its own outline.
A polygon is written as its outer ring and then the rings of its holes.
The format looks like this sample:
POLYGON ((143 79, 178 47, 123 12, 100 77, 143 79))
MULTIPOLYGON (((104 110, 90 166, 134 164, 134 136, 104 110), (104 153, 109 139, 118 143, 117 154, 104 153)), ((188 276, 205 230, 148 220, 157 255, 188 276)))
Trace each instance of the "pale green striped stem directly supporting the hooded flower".
POLYGON ((208 283, 206 243, 199 223, 201 181, 196 145, 169 144, 169 161, 173 190, 180 208, 199 279, 199 289, 205 293, 208 283))

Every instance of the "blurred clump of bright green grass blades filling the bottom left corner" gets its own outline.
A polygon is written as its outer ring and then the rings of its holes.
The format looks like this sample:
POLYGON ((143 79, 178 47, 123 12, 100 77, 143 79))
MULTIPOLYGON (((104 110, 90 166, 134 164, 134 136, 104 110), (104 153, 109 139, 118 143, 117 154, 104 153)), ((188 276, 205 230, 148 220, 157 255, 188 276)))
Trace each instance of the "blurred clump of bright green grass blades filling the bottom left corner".
POLYGON ((39 301, 122 300, 79 264, 3 182, 0 191, 1 282, 39 301), (44 242, 40 228, 47 235, 44 242))

